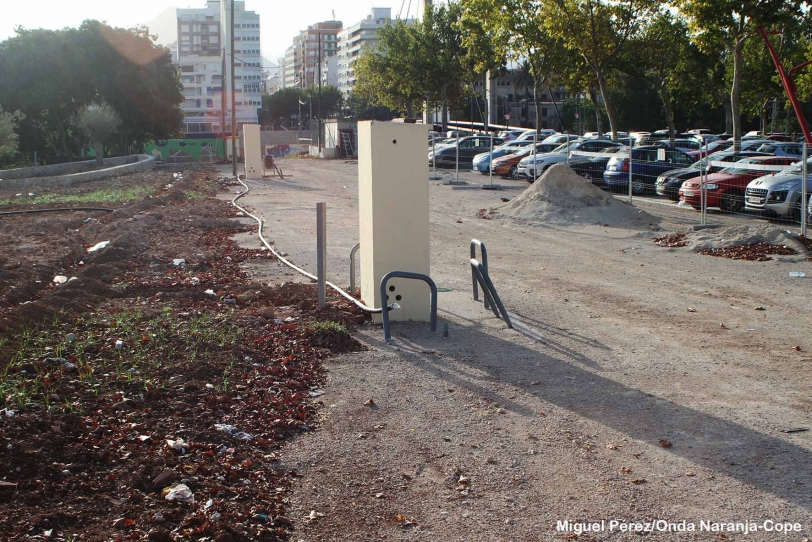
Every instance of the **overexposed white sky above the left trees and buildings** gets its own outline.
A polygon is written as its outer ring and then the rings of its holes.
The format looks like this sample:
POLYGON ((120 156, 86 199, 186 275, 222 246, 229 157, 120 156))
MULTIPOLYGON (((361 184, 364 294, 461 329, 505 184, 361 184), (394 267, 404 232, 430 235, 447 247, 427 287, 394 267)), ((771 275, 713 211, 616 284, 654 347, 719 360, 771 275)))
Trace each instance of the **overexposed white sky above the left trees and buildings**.
MULTIPOLYGON (((373 7, 390 7, 393 17, 401 13, 403 18, 408 10, 409 15, 415 17, 422 11, 423 1, 246 0, 245 6, 260 15, 262 56, 276 62, 300 30, 333 19, 334 11, 335 19, 348 26, 366 18, 373 7)), ((56 30, 79 26, 85 19, 128 28, 160 18, 163 25, 159 26, 166 28, 167 16, 160 16, 168 8, 200 8, 205 5, 205 0, 0 0, 0 41, 13 36, 17 26, 56 30)), ((160 30, 157 33, 161 34, 160 30)))

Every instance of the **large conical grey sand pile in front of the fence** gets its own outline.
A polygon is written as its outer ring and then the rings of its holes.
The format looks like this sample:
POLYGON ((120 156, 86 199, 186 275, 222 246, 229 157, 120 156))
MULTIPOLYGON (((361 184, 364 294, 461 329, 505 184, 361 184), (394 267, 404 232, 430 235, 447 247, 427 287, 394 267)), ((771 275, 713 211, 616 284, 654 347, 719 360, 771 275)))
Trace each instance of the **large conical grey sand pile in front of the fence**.
POLYGON ((660 220, 597 188, 567 164, 552 166, 519 197, 497 209, 503 216, 557 224, 648 228, 660 220))

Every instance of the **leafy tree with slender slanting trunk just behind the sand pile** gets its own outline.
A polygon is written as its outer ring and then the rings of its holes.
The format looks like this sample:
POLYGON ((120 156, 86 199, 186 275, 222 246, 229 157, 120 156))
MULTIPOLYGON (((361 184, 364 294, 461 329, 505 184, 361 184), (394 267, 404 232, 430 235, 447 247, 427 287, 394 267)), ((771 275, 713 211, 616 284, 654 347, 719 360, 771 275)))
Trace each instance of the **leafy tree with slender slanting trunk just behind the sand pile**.
MULTIPOLYGON (((652 0, 542 0, 544 25, 564 46, 578 53, 592 70, 600 89, 612 139, 617 139, 617 116, 609 96, 609 78, 618 67, 652 9, 652 0)), ((594 101, 594 100, 593 100, 594 101)))

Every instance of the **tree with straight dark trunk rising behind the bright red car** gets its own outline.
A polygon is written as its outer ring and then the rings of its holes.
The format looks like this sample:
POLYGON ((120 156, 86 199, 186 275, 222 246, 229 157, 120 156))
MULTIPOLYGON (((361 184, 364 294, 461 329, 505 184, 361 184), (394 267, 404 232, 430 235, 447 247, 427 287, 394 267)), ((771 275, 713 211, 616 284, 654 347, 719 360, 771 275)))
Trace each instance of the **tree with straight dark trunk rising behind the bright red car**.
POLYGON ((763 26, 791 18, 800 0, 678 0, 688 17, 693 37, 700 47, 722 46, 733 60, 730 109, 734 149, 741 145, 741 91, 744 74, 744 45, 763 26))

